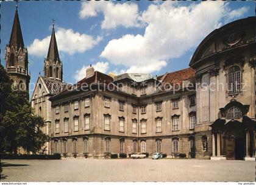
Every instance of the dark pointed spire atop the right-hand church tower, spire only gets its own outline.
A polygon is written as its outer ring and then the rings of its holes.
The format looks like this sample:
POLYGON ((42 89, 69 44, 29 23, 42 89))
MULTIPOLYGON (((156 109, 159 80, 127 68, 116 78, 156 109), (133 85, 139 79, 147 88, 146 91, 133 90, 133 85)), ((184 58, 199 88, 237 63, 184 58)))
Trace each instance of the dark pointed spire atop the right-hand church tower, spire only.
POLYGON ((51 59, 52 61, 59 60, 59 51, 57 46, 57 41, 55 37, 55 30, 54 30, 54 19, 52 19, 52 35, 51 35, 51 41, 49 45, 48 55, 47 59, 51 59))

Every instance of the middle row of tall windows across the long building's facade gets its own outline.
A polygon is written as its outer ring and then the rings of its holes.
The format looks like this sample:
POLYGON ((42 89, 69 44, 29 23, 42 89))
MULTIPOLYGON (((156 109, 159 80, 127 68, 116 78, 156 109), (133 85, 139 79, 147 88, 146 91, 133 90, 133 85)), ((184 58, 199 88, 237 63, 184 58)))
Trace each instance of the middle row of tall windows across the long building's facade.
MULTIPOLYGON (((110 120, 111 116, 109 114, 104 115, 104 130, 110 131, 110 120)), ((119 132, 124 132, 124 117, 119 117, 119 132)), ((158 117, 155 121, 156 132, 162 132, 162 117, 158 117)), ((68 133, 69 119, 64 119, 64 133, 68 133)), ((146 119, 141 119, 141 133, 146 133, 146 119)), ((194 129, 196 125, 196 116, 190 116, 190 129, 194 129)), ((84 116, 84 129, 90 130, 90 114, 85 114, 84 116)), ((180 130, 179 117, 172 118, 172 130, 180 130)), ((74 131, 79 131, 79 116, 74 117, 74 131)), ((60 133, 60 120, 55 120, 55 133, 60 133)), ((132 119, 132 133, 137 133, 137 119, 132 119)))

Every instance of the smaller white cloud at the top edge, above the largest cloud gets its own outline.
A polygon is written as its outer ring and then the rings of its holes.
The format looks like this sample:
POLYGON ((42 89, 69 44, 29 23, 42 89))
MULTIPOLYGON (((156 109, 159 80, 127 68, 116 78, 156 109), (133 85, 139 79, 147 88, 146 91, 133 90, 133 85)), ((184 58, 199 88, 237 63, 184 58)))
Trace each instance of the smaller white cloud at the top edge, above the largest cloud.
POLYGON ((79 12, 81 19, 104 14, 102 29, 113 29, 116 26, 134 27, 138 24, 138 5, 135 3, 113 3, 111 1, 84 1, 79 12))

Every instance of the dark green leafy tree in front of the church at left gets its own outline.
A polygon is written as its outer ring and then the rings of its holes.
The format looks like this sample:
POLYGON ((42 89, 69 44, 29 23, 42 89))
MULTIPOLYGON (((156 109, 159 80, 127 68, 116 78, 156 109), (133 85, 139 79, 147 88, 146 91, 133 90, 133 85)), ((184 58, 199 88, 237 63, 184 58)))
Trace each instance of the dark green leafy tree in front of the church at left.
POLYGON ((12 89, 7 72, 0 64, 0 133, 1 152, 16 153, 19 147, 27 152, 38 152, 48 141, 41 131, 43 118, 33 115, 29 94, 26 91, 12 89))

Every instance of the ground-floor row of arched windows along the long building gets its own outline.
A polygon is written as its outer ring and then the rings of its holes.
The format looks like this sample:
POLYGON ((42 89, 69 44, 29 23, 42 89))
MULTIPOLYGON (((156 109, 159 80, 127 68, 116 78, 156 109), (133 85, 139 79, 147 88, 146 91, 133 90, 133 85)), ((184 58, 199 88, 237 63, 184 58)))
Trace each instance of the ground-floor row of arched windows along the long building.
MULTIPOLYGON (((194 142, 194 137, 189 138, 190 140, 190 152, 193 150, 194 152, 194 148, 195 148, 195 142, 194 142)), ((58 141, 54 141, 54 153, 60 153, 59 152, 59 146, 58 146, 59 142, 58 141)), ((141 141, 140 142, 140 152, 141 153, 145 153, 146 150, 146 141, 141 141)), ((202 136, 202 150, 204 152, 207 151, 207 136, 202 136)), ((119 147, 120 147, 120 153, 125 153, 126 151, 124 150, 124 139, 120 139, 120 143, 119 143, 119 147)), ((63 141, 63 151, 64 154, 68 153, 68 142, 67 141, 63 141)), ((106 138, 105 139, 105 153, 110 153, 110 138, 106 138)), ((138 152, 138 141, 135 140, 132 142, 132 152, 133 153, 137 153, 138 152)), ((161 139, 157 139, 155 142, 155 152, 162 152, 162 140, 161 139)), ((173 138, 172 141, 172 152, 174 153, 178 153, 179 152, 179 138, 173 138)), ((77 140, 73 139, 73 153, 77 153, 77 140)), ((88 138, 84 139, 84 153, 89 153, 89 147, 88 147, 88 138)))

